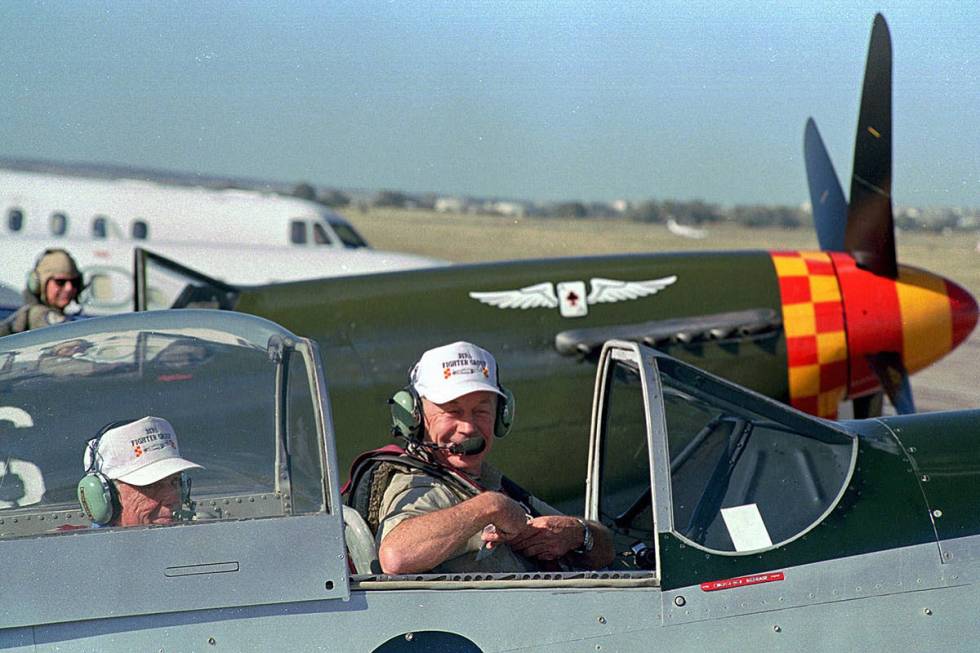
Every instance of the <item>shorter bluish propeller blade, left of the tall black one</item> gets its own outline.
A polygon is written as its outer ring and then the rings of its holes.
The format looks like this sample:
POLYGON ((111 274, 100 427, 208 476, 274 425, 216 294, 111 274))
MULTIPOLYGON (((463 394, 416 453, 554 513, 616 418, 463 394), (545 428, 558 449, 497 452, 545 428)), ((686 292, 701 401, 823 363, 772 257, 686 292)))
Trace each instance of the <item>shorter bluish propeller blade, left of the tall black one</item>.
POLYGON ((806 129, 803 130, 803 158, 817 242, 825 252, 843 252, 847 200, 813 118, 807 119, 806 129))

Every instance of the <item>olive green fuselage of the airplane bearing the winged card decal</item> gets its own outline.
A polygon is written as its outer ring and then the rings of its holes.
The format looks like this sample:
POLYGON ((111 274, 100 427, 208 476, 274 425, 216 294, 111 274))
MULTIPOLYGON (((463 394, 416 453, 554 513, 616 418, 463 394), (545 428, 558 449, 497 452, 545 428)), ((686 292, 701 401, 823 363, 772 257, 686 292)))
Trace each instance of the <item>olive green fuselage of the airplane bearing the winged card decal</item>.
MULTIPOLYGON (((517 398, 514 430, 491 459, 544 498, 580 497, 595 364, 560 354, 563 331, 692 320, 770 309, 780 315, 768 252, 650 254, 464 265, 246 288, 237 310, 318 341, 330 383, 341 468, 388 444, 386 400, 408 381, 423 351, 468 340, 491 351, 517 398), (504 309, 472 292, 593 278, 646 281, 676 276, 656 294, 588 306, 584 317, 555 308, 504 309), (558 465, 556 462, 560 461, 558 465)), ((660 345, 664 351, 768 396, 788 396, 781 329, 756 336, 660 345)))

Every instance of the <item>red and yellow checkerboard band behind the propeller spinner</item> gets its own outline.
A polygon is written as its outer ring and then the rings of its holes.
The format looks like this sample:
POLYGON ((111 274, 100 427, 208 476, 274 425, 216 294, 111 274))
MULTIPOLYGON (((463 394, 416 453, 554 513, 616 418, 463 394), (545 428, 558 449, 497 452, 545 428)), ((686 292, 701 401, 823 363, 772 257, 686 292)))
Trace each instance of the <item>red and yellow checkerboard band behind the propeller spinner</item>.
POLYGON ((790 403, 836 418, 847 392, 847 335, 840 286, 824 252, 771 252, 783 305, 790 403))

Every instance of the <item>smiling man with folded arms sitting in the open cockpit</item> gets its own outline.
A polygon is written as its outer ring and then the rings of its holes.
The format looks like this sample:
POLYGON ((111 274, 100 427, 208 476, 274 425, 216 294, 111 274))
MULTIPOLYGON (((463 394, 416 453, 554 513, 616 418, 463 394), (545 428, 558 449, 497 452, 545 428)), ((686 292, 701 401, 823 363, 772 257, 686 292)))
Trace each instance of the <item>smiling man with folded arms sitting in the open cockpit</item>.
POLYGON ((514 400, 497 381, 493 356, 457 342, 425 352, 411 385, 393 397, 411 405, 399 429, 407 454, 433 468, 396 472, 377 529, 385 573, 514 572, 612 562, 612 535, 597 522, 561 515, 484 462, 506 434, 514 400), (414 427, 414 428, 413 428, 414 427))

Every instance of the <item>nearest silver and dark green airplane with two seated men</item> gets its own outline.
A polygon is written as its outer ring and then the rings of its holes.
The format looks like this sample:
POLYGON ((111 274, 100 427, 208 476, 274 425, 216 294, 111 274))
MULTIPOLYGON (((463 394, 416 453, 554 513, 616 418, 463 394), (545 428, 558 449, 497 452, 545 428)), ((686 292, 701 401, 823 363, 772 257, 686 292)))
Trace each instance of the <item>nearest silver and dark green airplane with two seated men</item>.
MULTIPOLYGON (((332 388, 352 370, 322 361, 315 341, 227 311, 0 340, 0 650, 836 653, 978 635, 980 411, 835 423, 606 343, 575 397, 591 429, 565 444, 590 452, 568 471, 615 531, 614 565, 388 577, 340 503, 350 434, 332 388), (204 466, 182 521, 88 528, 86 440, 144 414, 204 466)), ((518 422, 536 411, 565 407, 518 422)), ((554 469, 564 453, 539 455, 554 469)))

